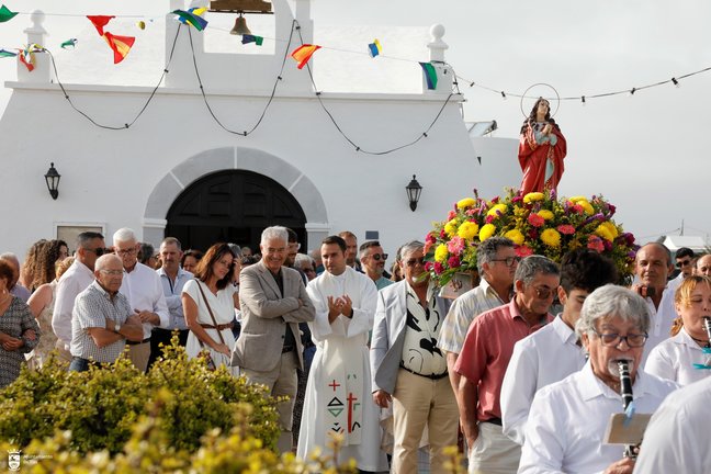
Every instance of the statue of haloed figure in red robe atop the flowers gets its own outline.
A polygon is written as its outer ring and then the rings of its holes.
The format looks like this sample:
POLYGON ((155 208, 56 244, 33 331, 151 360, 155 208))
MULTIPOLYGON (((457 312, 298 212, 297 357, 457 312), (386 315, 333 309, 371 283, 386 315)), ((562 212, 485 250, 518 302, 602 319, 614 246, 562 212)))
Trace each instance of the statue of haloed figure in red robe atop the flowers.
POLYGON ((548 100, 539 98, 521 126, 521 195, 545 190, 556 191, 563 176, 563 158, 566 153, 565 137, 551 117, 551 105, 548 100))

